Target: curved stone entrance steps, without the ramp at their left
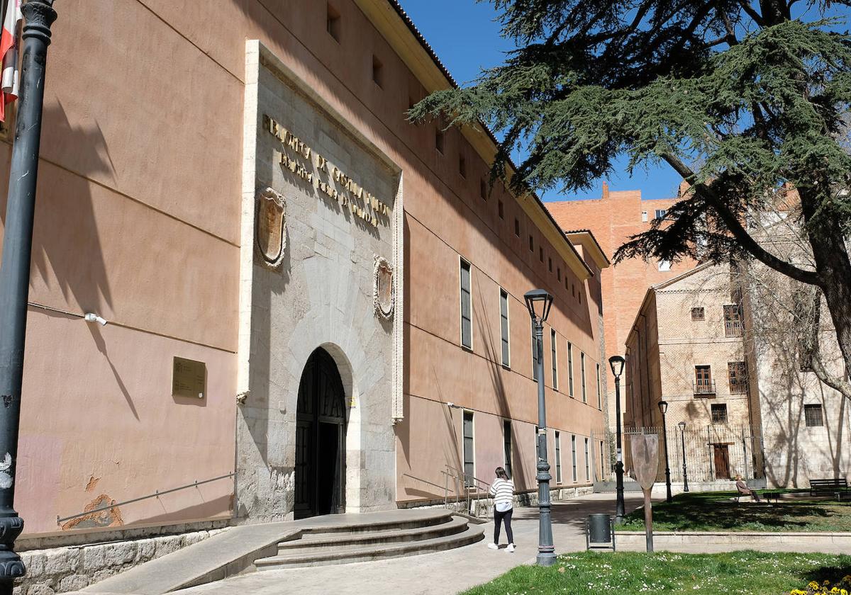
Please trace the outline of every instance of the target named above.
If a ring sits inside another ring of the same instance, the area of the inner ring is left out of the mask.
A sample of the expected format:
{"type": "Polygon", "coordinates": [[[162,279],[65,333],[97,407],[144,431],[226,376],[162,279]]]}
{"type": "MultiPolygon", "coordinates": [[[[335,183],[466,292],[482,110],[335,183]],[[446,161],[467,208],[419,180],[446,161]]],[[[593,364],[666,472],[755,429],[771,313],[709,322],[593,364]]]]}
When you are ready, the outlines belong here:
{"type": "Polygon", "coordinates": [[[307,528],[277,544],[277,555],[254,560],[257,570],[281,570],[401,558],[482,540],[480,525],[441,510],[424,519],[364,520],[363,524],[307,528]]]}

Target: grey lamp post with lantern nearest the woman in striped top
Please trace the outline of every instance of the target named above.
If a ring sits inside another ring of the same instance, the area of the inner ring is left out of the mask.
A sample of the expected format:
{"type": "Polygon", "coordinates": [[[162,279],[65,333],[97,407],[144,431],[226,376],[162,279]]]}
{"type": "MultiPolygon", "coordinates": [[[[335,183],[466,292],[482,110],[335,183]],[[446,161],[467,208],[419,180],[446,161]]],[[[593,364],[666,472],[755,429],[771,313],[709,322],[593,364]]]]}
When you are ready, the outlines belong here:
{"type": "Polygon", "coordinates": [[[533,289],[523,296],[534,325],[534,348],[538,360],[538,558],[539,566],[556,564],[556,548],[552,545],[550,509],[550,463],[546,462],[546,403],[544,399],[544,321],[550,314],[552,296],[543,289],[533,289]]]}

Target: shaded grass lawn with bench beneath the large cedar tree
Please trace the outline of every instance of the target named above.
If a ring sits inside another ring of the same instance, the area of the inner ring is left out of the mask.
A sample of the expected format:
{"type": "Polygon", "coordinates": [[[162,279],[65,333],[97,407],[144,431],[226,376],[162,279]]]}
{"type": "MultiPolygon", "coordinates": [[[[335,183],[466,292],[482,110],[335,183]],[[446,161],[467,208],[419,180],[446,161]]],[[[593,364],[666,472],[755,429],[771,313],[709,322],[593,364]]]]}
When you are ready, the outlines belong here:
{"type": "MultiPolygon", "coordinates": [[[[679,494],[654,502],[656,531],[851,531],[851,502],[780,500],[770,506],[730,501],[734,492],[679,494]]],[[[643,531],[644,511],[625,517],[620,530],[643,531]]]]}

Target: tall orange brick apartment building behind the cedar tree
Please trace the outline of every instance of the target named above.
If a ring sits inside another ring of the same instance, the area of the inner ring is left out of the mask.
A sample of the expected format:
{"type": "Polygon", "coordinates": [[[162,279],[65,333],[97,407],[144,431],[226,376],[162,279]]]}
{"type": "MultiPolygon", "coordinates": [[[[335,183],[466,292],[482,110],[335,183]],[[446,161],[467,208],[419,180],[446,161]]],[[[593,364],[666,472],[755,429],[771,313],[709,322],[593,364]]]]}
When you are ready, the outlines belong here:
{"type": "MultiPolygon", "coordinates": [[[[664,217],[667,209],[677,200],[676,197],[647,200],[642,198],[641,190],[608,190],[608,184],[603,183],[603,195],[598,200],[545,204],[563,229],[590,230],[603,253],[612,260],[614,252],[631,235],[648,230],[653,220],[664,217]]],[[[604,361],[612,355],[624,354],[626,337],[648,287],[671,279],[693,266],[691,261],[644,262],[631,258],[603,272],[601,282],[603,303],[606,304],[603,315],[604,361]]],[[[608,365],[603,373],[610,380],[608,365]]],[[[608,394],[608,425],[614,427],[614,382],[604,382],[604,386],[608,394]]]]}

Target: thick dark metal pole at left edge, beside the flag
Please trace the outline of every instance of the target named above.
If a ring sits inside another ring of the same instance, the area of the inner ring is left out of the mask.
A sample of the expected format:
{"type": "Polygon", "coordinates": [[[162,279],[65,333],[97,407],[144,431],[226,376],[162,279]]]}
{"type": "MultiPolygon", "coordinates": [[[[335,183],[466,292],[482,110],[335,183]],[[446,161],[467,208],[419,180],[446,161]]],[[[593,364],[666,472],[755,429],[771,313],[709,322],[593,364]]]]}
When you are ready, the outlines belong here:
{"type": "Polygon", "coordinates": [[[54,0],[27,0],[21,6],[23,64],[12,165],[3,261],[0,263],[0,595],[12,595],[14,579],[26,573],[14,540],[24,521],[14,510],[14,479],[18,456],[20,388],[24,373],[26,302],[30,290],[32,224],[36,206],[38,150],[42,133],[44,65],[50,26],[56,20],[54,0]]]}

